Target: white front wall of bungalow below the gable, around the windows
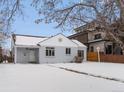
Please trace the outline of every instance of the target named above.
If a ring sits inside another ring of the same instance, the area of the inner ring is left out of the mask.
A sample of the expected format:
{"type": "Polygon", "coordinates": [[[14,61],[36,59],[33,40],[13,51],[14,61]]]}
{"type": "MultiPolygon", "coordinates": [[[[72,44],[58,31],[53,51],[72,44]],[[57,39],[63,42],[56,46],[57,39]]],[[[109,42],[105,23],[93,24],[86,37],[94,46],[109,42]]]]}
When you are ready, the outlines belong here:
{"type": "MultiPolygon", "coordinates": [[[[54,57],[47,57],[46,56],[46,47],[41,47],[39,52],[39,60],[40,63],[67,63],[74,61],[74,57],[77,56],[77,51],[79,48],[74,47],[55,47],[55,56],[54,57]],[[71,55],[66,55],[65,50],[66,48],[71,48],[71,55]]],[[[84,50],[84,60],[86,61],[87,53],[86,48],[80,48],[81,50],[84,50]]]]}

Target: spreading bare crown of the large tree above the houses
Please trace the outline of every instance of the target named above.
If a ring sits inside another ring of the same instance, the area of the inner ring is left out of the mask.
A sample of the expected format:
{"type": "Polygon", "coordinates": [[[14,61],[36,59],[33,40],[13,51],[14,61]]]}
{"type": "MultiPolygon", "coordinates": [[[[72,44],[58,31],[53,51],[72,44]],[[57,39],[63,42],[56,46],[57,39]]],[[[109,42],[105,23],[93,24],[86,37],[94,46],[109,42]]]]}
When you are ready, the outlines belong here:
{"type": "Polygon", "coordinates": [[[33,0],[32,5],[42,17],[37,22],[56,22],[57,27],[81,26],[92,20],[111,23],[119,12],[115,0],[33,0]]]}

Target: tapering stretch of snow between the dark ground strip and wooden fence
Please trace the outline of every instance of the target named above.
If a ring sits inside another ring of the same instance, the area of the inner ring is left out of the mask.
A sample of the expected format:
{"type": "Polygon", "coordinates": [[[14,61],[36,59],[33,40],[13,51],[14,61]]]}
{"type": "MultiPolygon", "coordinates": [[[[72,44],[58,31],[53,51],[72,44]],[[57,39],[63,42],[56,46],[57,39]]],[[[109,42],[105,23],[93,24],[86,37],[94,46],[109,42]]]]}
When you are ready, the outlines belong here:
{"type": "Polygon", "coordinates": [[[52,66],[124,83],[124,64],[84,62],[52,64],[52,66]]]}

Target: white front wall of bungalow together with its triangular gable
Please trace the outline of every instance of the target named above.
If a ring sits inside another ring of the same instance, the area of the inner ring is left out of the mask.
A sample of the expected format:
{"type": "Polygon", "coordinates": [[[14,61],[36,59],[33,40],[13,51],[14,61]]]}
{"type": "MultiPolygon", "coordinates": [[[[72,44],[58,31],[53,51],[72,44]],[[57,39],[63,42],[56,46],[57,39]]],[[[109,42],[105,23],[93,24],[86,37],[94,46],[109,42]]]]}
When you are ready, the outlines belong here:
{"type": "MultiPolygon", "coordinates": [[[[40,63],[62,63],[74,61],[74,58],[75,56],[77,56],[79,48],[78,44],[69,40],[68,38],[61,34],[51,37],[43,42],[40,42],[39,44],[41,45],[39,52],[40,63]],[[59,39],[61,39],[61,41],[59,41],[59,39]],[[55,48],[54,57],[46,57],[46,47],[55,48]],[[66,55],[65,53],[66,48],[71,48],[71,55],[66,55]]],[[[84,50],[85,53],[84,61],[86,61],[86,46],[82,46],[80,48],[84,50]]]]}

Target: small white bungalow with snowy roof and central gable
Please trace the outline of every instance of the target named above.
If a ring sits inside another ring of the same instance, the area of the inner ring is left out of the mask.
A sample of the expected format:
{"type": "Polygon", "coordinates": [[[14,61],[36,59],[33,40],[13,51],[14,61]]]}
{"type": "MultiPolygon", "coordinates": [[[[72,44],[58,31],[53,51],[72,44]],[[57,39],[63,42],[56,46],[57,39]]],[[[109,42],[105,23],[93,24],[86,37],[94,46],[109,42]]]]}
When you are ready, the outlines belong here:
{"type": "Polygon", "coordinates": [[[49,38],[18,34],[12,37],[14,63],[73,62],[77,55],[82,56],[83,61],[87,59],[87,47],[62,34],[49,38]]]}

